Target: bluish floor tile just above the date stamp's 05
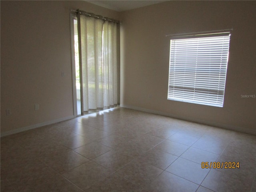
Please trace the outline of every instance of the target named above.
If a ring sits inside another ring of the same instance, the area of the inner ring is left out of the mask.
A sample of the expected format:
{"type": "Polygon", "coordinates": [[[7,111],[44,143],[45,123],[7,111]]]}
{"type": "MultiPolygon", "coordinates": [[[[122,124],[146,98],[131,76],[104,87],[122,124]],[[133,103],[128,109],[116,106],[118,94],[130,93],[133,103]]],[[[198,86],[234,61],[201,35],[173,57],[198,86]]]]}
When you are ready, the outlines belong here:
{"type": "Polygon", "coordinates": [[[190,147],[180,157],[201,164],[201,162],[216,162],[219,155],[208,152],[208,151],[204,151],[201,149],[190,147]]]}

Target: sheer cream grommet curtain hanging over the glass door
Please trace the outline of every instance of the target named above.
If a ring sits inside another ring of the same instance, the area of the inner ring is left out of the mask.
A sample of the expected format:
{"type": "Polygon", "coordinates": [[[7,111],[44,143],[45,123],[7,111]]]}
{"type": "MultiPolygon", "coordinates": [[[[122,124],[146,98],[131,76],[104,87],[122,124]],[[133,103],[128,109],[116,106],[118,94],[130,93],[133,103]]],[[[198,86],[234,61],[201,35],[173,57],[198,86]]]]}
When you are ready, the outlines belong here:
{"type": "Polygon", "coordinates": [[[78,11],[81,114],[119,104],[119,25],[78,11]]]}

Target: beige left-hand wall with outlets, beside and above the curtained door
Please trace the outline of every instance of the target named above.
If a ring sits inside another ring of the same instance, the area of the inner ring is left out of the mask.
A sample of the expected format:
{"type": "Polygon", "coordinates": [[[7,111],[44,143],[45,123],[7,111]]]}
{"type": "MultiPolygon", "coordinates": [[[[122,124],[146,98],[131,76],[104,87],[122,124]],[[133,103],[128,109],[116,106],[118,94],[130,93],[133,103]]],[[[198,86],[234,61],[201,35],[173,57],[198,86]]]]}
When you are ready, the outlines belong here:
{"type": "Polygon", "coordinates": [[[72,117],[70,10],[118,12],[84,1],[0,3],[1,133],[72,117]]]}

